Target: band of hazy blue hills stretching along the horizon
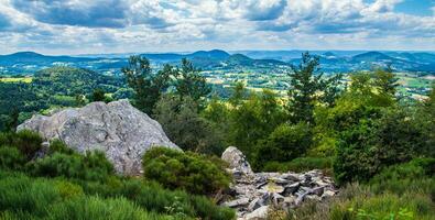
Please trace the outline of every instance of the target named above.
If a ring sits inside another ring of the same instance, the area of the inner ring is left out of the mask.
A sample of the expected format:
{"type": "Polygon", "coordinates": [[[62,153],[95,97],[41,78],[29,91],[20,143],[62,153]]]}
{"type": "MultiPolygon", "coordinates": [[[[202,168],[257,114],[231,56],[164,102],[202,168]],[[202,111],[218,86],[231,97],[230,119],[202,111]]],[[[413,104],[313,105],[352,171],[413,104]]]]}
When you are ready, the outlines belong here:
{"type": "MultiPolygon", "coordinates": [[[[182,58],[205,70],[274,70],[298,64],[304,51],[241,51],[227,53],[221,50],[197,51],[193,53],[144,53],[157,68],[164,64],[180,65],[182,58]]],[[[313,51],[320,57],[322,69],[327,73],[347,73],[371,69],[374,66],[391,65],[396,70],[435,73],[435,53],[428,52],[360,52],[360,51],[313,51]]],[[[127,57],[104,55],[47,56],[34,52],[0,55],[0,75],[33,74],[37,70],[70,66],[93,69],[105,74],[120,74],[128,65],[127,57]]]]}

